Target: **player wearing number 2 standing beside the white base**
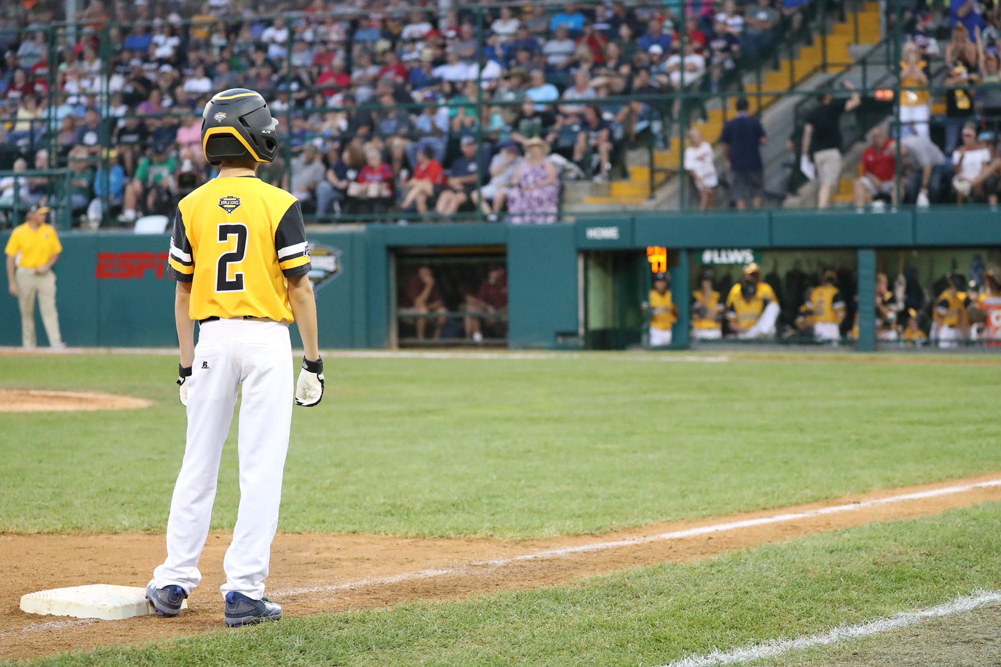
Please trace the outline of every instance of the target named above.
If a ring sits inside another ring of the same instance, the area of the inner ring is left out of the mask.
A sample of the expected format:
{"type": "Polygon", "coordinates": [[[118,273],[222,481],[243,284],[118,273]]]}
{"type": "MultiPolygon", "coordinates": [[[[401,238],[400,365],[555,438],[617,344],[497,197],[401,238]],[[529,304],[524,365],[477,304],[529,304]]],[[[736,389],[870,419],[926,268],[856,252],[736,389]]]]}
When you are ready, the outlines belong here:
{"type": "Polygon", "coordinates": [[[170,239],[181,350],[177,384],[187,407],[187,445],[170,503],[167,558],[153,571],[146,598],[157,613],[176,616],[201,580],[198,558],[242,384],[240,504],[222,586],[225,623],[239,627],[281,618],[281,607],[264,597],[263,582],[278,526],[292,419],[288,324],[293,319],[305,350],[296,405],[319,403],[323,362],[298,201],[254,175],[257,165],[277,152],[277,120],[258,93],[243,88],[215,95],[202,118],[202,149],[220,169],[218,177],[181,199],[170,239]]]}

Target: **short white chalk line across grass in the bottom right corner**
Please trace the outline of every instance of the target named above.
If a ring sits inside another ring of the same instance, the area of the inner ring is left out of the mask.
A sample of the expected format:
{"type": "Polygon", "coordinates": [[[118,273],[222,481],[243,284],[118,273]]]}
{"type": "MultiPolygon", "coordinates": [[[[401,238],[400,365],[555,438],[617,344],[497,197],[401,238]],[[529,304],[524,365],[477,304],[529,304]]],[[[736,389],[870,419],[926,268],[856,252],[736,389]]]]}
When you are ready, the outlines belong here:
{"type": "Polygon", "coordinates": [[[839,625],[828,632],[806,635],[796,639],[776,639],[763,644],[745,646],[732,651],[714,651],[700,656],[682,658],[662,667],[717,667],[718,665],[742,665],[765,658],[775,658],[790,651],[804,651],[816,646],[830,646],[849,639],[861,639],[909,625],[921,623],[930,618],[941,618],[952,614],[973,611],[978,607],[1001,602],[997,591],[975,591],[935,607],[916,612],[901,612],[895,616],[867,621],[859,625],[839,625]]]}

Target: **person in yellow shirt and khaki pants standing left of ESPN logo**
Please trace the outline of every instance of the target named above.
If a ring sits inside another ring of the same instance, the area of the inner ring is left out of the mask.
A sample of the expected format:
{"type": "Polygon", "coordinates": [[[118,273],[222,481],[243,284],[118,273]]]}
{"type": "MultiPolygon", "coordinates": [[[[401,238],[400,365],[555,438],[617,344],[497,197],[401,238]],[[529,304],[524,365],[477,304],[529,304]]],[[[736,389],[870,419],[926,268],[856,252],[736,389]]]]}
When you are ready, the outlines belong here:
{"type": "Polygon", "coordinates": [[[21,345],[35,347],[35,296],[42,311],[42,323],[53,348],[64,348],[59,336],[56,310],[56,274],[52,266],[59,259],[62,243],[55,228],[45,221],[48,206],[33,206],[28,221],[18,225],[7,241],[7,283],[21,307],[21,345]]]}

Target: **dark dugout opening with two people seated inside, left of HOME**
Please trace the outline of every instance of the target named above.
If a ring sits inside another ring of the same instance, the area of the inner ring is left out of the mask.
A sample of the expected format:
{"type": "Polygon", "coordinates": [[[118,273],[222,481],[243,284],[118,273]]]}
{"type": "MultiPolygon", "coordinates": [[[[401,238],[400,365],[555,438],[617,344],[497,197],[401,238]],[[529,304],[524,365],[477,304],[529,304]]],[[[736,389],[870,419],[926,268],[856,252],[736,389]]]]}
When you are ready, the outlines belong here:
{"type": "Polygon", "coordinates": [[[507,348],[504,245],[395,248],[390,270],[391,348],[507,348]]]}

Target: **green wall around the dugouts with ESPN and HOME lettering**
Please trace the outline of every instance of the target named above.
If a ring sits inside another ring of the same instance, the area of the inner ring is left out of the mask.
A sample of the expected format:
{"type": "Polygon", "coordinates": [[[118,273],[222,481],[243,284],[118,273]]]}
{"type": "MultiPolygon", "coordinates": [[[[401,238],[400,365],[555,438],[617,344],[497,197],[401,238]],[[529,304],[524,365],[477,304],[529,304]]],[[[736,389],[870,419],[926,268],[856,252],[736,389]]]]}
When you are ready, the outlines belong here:
{"type": "MultiPolygon", "coordinates": [[[[9,232],[0,233],[6,242],[9,232]]],[[[675,347],[688,345],[690,258],[702,248],[839,248],[858,253],[860,340],[875,347],[872,315],[877,253],[890,249],[1001,246],[1001,216],[943,208],[882,214],[761,211],[610,215],[552,225],[370,224],[318,228],[310,245],[334,253],[339,271],[317,289],[324,348],[386,348],[394,325],[393,257],[415,248],[475,246],[507,251],[509,341],[513,349],[583,345],[581,253],[672,250],[672,288],[681,312],[675,347]],[[681,252],[678,252],[681,250],[681,252]]],[[[164,268],[167,235],[70,232],[56,266],[63,338],[70,346],[176,345],[173,283],[164,268]]],[[[6,290],[5,290],[6,291],[6,290]]],[[[36,313],[37,317],[37,313],[36,313]]],[[[40,343],[44,341],[37,322],[40,343]]],[[[0,297],[0,345],[20,344],[17,302],[0,297]]]]}

